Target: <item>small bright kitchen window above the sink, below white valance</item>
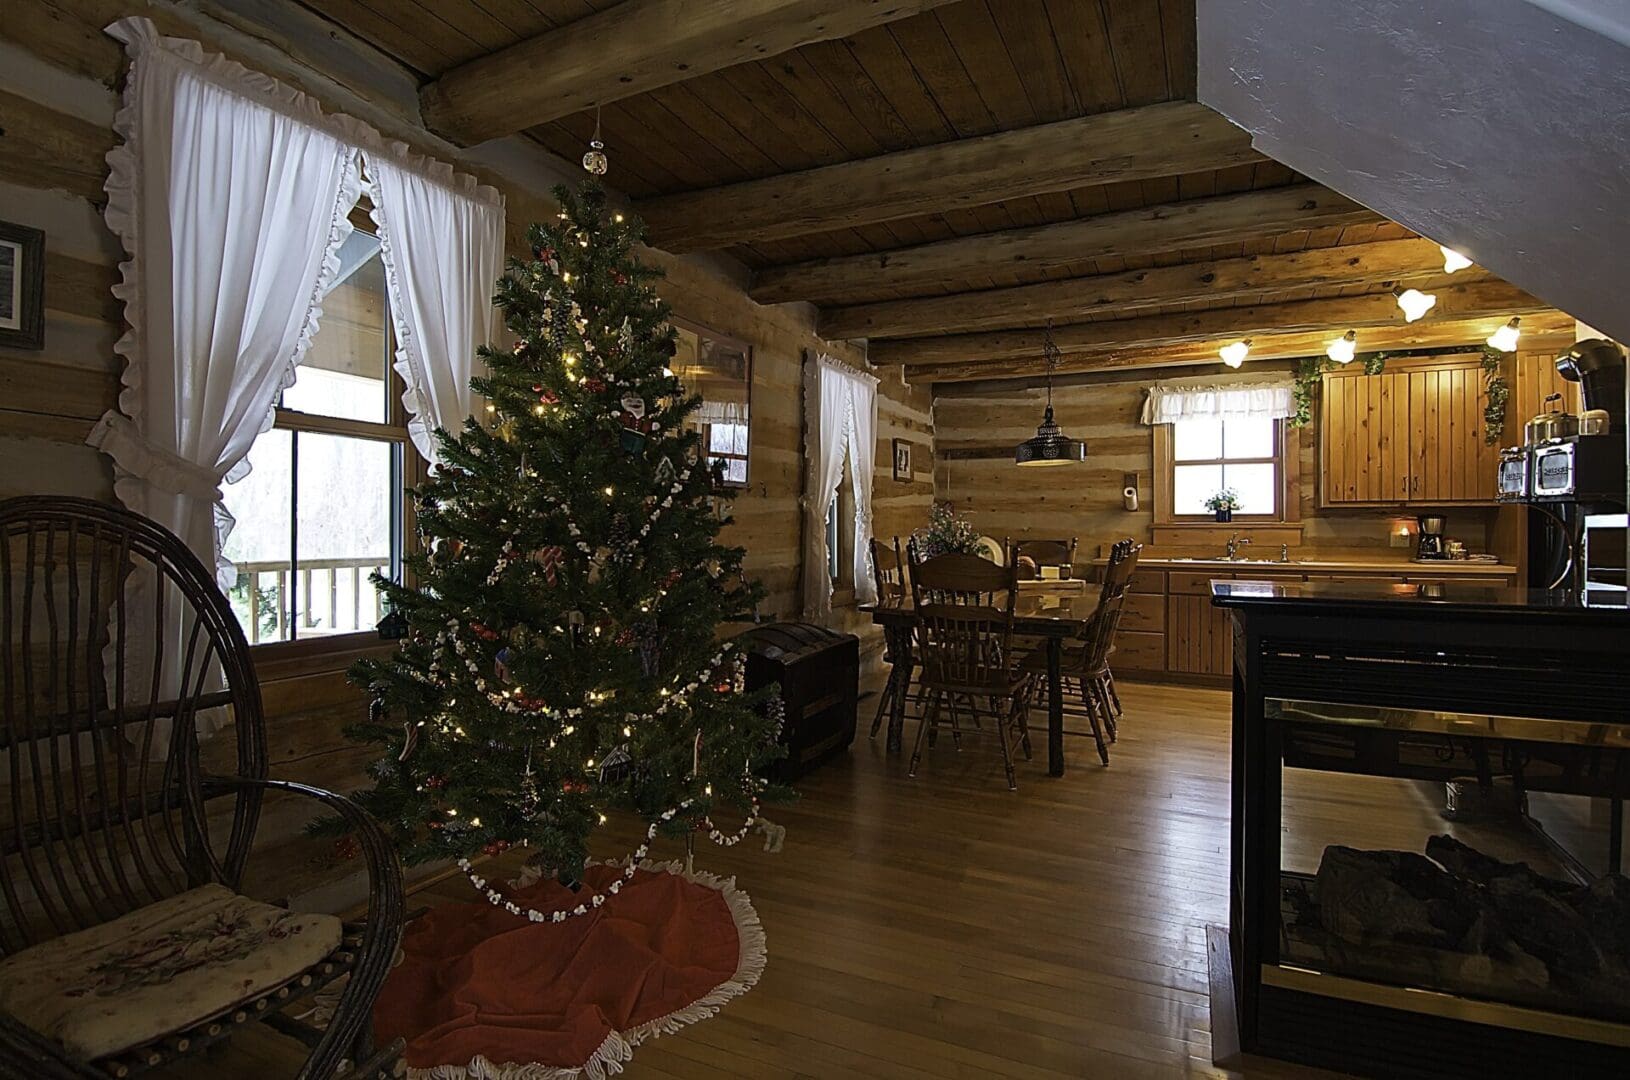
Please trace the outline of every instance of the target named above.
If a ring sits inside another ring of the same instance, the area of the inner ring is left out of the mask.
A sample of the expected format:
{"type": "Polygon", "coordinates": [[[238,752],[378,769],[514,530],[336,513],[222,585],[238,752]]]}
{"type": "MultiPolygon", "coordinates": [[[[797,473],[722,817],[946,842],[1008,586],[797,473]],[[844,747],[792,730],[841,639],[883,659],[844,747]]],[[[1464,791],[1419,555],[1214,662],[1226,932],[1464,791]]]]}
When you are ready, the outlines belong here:
{"type": "Polygon", "coordinates": [[[1284,433],[1280,420],[1190,417],[1156,428],[1164,472],[1162,518],[1209,520],[1206,500],[1222,489],[1239,495],[1236,518],[1286,520],[1284,433]]]}

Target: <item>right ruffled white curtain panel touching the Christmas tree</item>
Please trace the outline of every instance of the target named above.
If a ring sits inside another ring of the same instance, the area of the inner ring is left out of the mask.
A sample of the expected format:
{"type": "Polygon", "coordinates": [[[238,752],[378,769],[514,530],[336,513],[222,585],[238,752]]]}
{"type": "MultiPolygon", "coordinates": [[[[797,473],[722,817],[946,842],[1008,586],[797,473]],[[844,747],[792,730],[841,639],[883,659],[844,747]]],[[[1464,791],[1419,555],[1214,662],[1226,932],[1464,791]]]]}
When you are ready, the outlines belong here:
{"type": "Polygon", "coordinates": [[[458,435],[473,412],[476,349],[492,340],[492,290],[504,274],[504,202],[491,187],[430,178],[365,155],[373,223],[396,323],[408,435],[437,459],[435,428],[458,435]]]}

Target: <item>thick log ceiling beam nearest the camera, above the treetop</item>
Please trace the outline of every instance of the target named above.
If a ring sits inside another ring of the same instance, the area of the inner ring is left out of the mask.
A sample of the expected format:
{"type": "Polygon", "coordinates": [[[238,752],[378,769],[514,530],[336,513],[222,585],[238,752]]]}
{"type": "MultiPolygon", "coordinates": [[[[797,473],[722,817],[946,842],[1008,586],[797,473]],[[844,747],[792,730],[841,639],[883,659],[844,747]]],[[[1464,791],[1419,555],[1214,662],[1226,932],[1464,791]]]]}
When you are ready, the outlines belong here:
{"type": "Polygon", "coordinates": [[[944,3],[623,0],[445,72],[419,103],[430,130],[469,145],[944,3]]]}

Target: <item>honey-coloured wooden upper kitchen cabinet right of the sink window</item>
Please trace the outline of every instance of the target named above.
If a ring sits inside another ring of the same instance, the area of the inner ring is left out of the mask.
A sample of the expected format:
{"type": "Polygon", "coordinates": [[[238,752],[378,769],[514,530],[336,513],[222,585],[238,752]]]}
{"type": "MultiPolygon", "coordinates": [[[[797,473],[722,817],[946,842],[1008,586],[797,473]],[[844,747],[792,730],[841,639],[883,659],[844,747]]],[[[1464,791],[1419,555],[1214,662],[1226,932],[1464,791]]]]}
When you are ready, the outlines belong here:
{"type": "Polygon", "coordinates": [[[1394,362],[1324,376],[1319,498],[1343,505],[1493,503],[1482,360],[1394,362]]]}

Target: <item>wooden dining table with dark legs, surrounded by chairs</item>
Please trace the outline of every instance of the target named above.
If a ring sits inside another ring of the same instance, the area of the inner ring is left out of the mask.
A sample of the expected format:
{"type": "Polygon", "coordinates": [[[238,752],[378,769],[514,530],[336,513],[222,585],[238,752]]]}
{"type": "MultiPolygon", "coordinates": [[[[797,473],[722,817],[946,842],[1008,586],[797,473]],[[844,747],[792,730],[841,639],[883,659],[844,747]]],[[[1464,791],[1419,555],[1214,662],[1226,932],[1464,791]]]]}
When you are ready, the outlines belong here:
{"type": "MultiPolygon", "coordinates": [[[[1064,642],[1086,634],[1087,621],[1099,606],[1097,590],[1087,590],[1086,582],[1048,582],[1051,588],[1024,588],[1019,583],[1014,599],[1014,635],[1042,640],[1046,650],[1046,774],[1064,775],[1064,694],[1063,666],[1064,642]]],[[[1037,583],[1040,585],[1040,582],[1037,583]]],[[[862,614],[883,630],[888,655],[895,658],[888,673],[893,684],[893,709],[888,713],[888,751],[903,746],[906,725],[906,691],[911,687],[913,630],[916,608],[910,596],[885,598],[875,604],[861,604],[862,614]]]]}

